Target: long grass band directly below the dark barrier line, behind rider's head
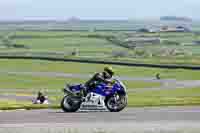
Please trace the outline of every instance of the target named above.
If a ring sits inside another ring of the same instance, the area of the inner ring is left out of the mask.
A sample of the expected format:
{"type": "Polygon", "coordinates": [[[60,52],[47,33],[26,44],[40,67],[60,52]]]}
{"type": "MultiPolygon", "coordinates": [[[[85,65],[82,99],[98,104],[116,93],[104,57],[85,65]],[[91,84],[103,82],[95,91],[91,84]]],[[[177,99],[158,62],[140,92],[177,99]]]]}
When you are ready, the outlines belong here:
{"type": "MultiPolygon", "coordinates": [[[[87,64],[72,62],[51,62],[41,60],[0,60],[0,71],[6,72],[61,72],[74,74],[94,74],[101,72],[103,64],[87,64]]],[[[143,67],[127,67],[115,66],[117,76],[130,77],[155,77],[156,73],[160,73],[161,78],[173,78],[180,80],[199,80],[200,71],[182,70],[182,69],[158,69],[143,67]],[[187,76],[185,76],[187,75],[187,76]]]]}

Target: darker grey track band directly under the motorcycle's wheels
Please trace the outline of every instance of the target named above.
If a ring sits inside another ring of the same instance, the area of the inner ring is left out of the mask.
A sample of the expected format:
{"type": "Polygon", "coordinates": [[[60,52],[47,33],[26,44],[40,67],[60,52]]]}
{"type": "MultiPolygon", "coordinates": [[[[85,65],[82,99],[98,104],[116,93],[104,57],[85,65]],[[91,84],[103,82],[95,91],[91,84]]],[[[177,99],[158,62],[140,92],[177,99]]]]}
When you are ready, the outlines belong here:
{"type": "Polygon", "coordinates": [[[119,113],[76,112],[61,110],[10,111],[0,113],[0,124],[16,123],[93,123],[194,121],[200,124],[200,107],[128,108],[119,113]]]}

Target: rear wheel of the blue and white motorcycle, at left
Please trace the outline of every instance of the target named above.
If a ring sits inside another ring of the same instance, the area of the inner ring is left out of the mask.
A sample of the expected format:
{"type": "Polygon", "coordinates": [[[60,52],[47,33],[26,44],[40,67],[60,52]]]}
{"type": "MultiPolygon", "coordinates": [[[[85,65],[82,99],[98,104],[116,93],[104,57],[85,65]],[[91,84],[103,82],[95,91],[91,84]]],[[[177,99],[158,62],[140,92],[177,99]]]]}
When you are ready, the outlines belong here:
{"type": "Polygon", "coordinates": [[[81,100],[75,96],[65,96],[61,101],[61,108],[64,112],[76,112],[81,106],[81,100]]]}

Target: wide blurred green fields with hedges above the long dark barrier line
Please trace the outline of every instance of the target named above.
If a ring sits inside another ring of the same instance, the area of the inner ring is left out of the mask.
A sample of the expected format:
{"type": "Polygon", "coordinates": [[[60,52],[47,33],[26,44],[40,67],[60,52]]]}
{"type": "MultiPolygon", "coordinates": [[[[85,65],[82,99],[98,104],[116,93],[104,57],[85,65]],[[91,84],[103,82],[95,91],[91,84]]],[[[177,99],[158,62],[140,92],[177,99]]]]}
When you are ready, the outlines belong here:
{"type": "Polygon", "coordinates": [[[200,45],[194,44],[194,41],[199,41],[200,35],[193,33],[10,31],[1,33],[0,37],[0,54],[18,52],[23,55],[26,52],[39,56],[55,56],[59,53],[65,58],[152,64],[200,64],[200,45]],[[11,44],[26,48],[5,47],[5,42],[2,42],[5,37],[8,37],[11,44]],[[114,37],[113,42],[108,41],[110,37],[114,37]],[[162,41],[160,44],[126,43],[127,38],[160,38],[162,41]],[[125,48],[129,45],[136,47],[125,48]],[[73,52],[75,55],[72,55],[73,52]]]}

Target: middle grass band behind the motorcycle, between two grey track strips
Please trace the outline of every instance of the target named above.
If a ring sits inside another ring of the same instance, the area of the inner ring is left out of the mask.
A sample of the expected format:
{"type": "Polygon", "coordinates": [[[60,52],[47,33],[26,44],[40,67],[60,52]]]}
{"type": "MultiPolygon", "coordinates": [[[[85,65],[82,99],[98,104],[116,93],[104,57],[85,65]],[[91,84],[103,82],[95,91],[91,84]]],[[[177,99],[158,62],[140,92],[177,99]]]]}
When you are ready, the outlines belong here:
{"type": "MultiPolygon", "coordinates": [[[[29,76],[29,75],[16,75],[16,74],[1,74],[0,75],[0,88],[11,89],[53,89],[61,90],[66,83],[79,84],[85,83],[86,79],[79,78],[58,78],[47,76],[29,76]],[[12,83],[12,84],[11,84],[12,83]]],[[[158,82],[143,82],[143,81],[124,81],[128,89],[139,88],[152,88],[159,87],[161,84],[158,82]]]]}

